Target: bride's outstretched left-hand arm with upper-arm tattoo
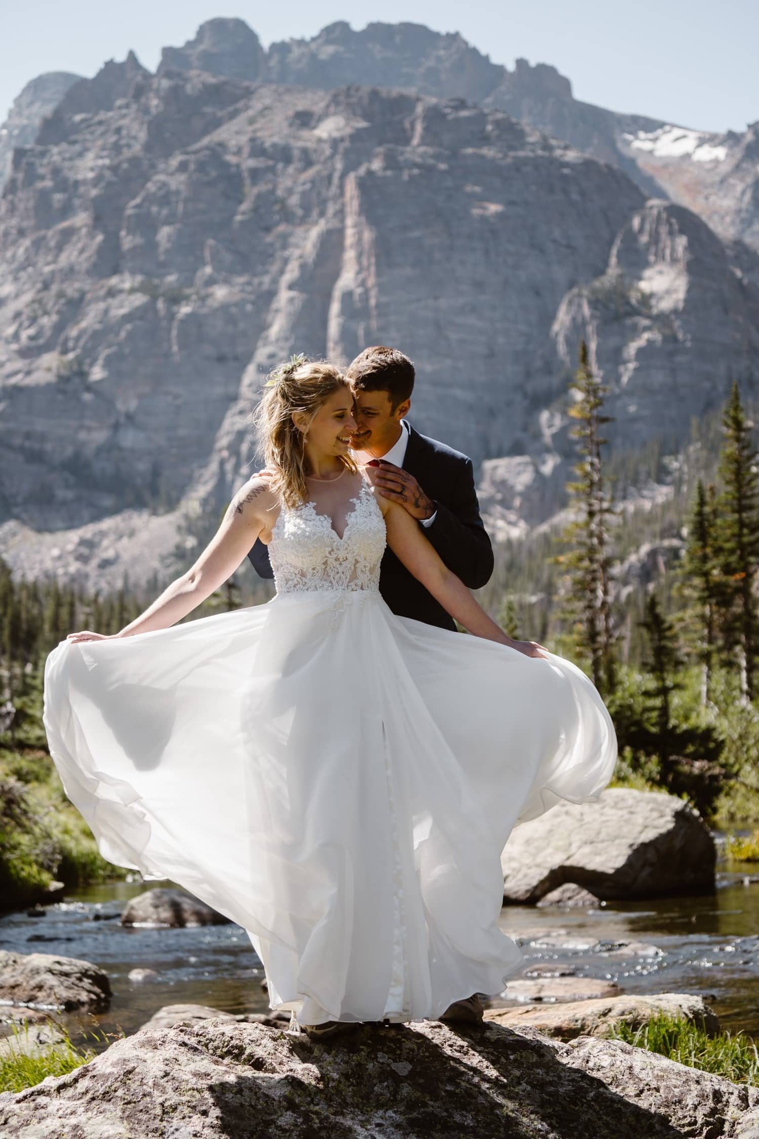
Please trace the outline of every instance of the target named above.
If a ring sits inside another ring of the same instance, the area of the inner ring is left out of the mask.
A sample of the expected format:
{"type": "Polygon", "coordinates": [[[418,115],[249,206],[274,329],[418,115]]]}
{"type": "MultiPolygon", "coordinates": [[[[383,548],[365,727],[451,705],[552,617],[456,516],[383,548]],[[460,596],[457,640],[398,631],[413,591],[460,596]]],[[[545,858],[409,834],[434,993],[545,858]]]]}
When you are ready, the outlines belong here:
{"type": "MultiPolygon", "coordinates": [[[[273,516],[267,510],[273,506],[275,499],[267,481],[258,476],[250,478],[230,502],[218,530],[195,564],[167,585],[139,617],[114,636],[132,637],[155,629],[168,629],[197,608],[246,559],[255,540],[272,522],[273,516]]],[[[72,641],[96,639],[105,638],[90,630],[67,637],[72,641]]]]}

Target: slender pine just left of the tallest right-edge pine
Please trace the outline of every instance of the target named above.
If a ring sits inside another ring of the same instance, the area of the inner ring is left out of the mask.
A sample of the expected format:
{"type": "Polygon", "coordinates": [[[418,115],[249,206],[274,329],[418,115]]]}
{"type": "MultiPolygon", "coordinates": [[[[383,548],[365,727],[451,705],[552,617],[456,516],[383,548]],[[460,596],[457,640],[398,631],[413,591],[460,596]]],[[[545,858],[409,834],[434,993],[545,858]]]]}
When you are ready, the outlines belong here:
{"type": "Polygon", "coordinates": [[[711,698],[717,617],[721,584],[716,551],[715,489],[699,480],[687,530],[687,544],[679,573],[691,606],[686,618],[695,632],[695,654],[701,665],[701,704],[711,698]]]}

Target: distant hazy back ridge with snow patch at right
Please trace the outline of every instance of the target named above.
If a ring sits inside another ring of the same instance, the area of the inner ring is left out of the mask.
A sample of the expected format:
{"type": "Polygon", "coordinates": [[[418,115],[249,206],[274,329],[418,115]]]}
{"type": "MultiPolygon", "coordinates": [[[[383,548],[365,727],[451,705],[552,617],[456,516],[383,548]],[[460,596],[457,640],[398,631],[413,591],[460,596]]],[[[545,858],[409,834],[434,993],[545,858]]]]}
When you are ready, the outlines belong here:
{"type": "Polygon", "coordinates": [[[166,48],[164,63],[234,79],[325,89],[361,83],[481,103],[613,163],[646,197],[687,206],[724,239],[759,248],[759,123],[716,134],[608,110],[576,99],[570,81],[548,64],[517,59],[510,71],[459,34],[411,23],[371,23],[355,32],[341,21],[264,54],[242,21],[214,19],[183,48],[166,48]]]}

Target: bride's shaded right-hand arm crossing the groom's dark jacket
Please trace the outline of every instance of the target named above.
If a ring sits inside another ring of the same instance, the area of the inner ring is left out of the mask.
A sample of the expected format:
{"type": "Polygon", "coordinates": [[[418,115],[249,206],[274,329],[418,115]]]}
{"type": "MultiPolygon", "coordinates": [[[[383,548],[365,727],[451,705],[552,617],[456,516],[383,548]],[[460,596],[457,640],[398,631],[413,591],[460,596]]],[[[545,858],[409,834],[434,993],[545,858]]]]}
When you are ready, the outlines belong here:
{"type": "Polygon", "coordinates": [[[461,579],[448,570],[415,518],[403,506],[382,498],[377,491],[376,498],[385,515],[388,546],[452,617],[476,637],[508,645],[526,656],[543,656],[534,641],[513,640],[488,617],[461,579]]]}

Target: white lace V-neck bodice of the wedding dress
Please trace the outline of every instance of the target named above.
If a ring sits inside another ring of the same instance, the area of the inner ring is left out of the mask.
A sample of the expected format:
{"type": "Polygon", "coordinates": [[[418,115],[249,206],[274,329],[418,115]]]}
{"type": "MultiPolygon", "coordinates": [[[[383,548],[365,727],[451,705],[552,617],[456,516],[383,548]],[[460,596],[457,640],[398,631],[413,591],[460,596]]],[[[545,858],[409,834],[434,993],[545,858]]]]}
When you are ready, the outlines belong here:
{"type": "Polygon", "coordinates": [[[363,481],[350,502],[343,538],[327,515],[317,514],[316,503],[282,507],[269,543],[278,593],[315,589],[378,593],[385,518],[363,481]]]}

